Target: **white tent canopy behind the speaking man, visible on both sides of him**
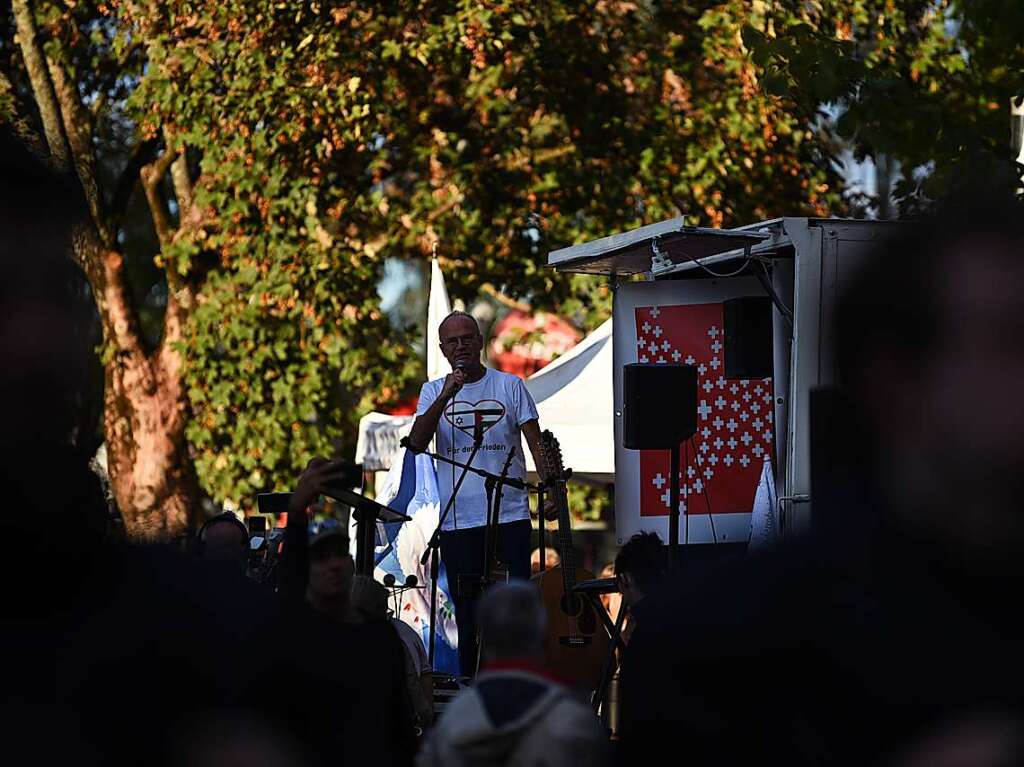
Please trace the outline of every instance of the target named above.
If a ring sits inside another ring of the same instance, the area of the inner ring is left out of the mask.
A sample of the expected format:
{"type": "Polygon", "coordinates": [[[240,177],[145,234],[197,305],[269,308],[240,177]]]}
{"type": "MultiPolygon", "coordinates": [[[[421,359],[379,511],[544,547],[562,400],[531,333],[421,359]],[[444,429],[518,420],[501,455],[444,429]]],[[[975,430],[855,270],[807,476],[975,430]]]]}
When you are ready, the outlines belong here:
{"type": "MultiPolygon", "coordinates": [[[[541,427],[550,429],[562,460],[579,479],[615,480],[614,416],[611,392],[611,319],[572,349],[526,379],[541,427]]],[[[359,421],[355,461],[368,471],[386,471],[409,433],[412,416],[370,413],[359,421]]],[[[523,449],[526,450],[525,444],[523,449]]],[[[526,468],[535,472],[526,450],[526,468]]]]}

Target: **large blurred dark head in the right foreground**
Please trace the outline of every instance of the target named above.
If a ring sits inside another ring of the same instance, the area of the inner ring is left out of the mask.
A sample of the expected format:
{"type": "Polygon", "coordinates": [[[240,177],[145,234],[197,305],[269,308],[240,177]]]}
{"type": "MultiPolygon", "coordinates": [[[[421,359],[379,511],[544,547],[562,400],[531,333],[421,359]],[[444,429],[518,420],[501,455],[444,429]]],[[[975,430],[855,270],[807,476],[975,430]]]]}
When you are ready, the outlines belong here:
{"type": "Polygon", "coordinates": [[[972,568],[1019,568],[1024,550],[1022,250],[1016,202],[949,206],[901,226],[837,317],[889,511],[972,568]]]}

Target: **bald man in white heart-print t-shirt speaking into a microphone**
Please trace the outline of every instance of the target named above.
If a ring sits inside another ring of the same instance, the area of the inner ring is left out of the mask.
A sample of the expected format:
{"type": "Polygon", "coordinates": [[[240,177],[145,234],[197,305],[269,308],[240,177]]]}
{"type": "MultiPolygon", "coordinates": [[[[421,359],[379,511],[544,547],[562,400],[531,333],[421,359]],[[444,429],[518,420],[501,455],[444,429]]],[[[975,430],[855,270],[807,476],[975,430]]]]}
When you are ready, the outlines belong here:
{"type": "MultiPolygon", "coordinates": [[[[545,463],[537,406],[522,380],[485,368],[480,363],[483,336],[471,314],[453,311],[441,322],[438,336],[441,353],[451,363],[452,373],[423,384],[416,421],[409,434],[410,448],[421,453],[436,438],[438,455],[465,463],[473,452],[474,438],[478,438],[480,448],[473,466],[492,474],[501,473],[509,451],[515,449],[508,476],[523,479],[526,463],[522,435],[540,470],[545,463]]],[[[437,485],[442,510],[461,473],[462,470],[452,464],[438,463],[437,485]]],[[[460,577],[485,574],[486,515],[484,479],[469,472],[440,534],[441,561],[447,571],[459,627],[459,665],[466,676],[472,675],[476,668],[479,593],[463,588],[470,579],[460,577]]],[[[497,558],[508,566],[510,577],[525,580],[529,578],[529,551],[528,495],[525,489],[505,486],[496,539],[497,558]]]]}

